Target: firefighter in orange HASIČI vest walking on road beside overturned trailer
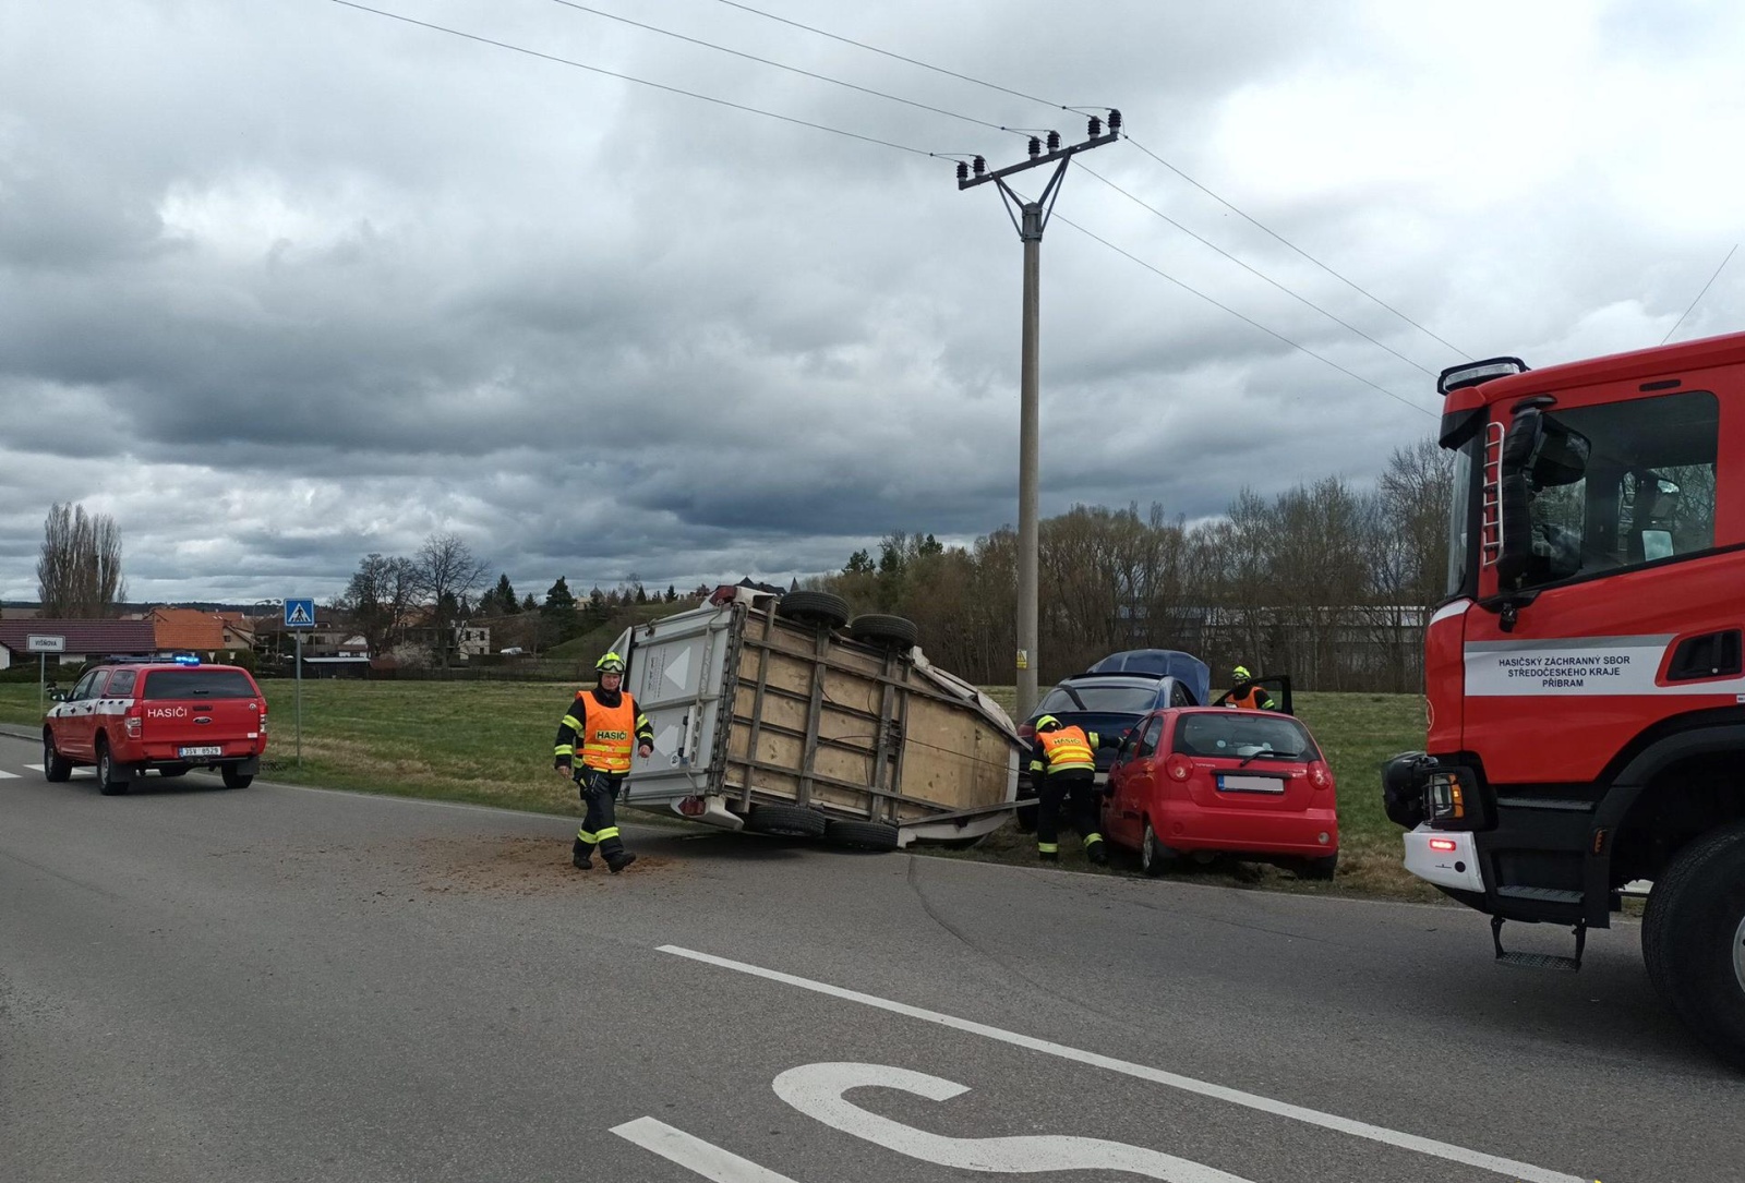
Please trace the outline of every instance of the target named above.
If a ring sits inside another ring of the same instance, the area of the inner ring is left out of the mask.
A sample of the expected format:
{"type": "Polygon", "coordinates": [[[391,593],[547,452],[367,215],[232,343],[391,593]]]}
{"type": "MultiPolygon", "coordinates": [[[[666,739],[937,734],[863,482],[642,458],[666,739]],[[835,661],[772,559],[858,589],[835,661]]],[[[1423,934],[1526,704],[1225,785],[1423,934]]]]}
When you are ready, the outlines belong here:
{"type": "Polygon", "coordinates": [[[614,820],[618,785],[630,771],[630,752],[644,759],[654,750],[654,726],[637,708],[637,700],[623,691],[625,660],[607,653],[593,663],[599,684],[576,691],[564,721],[557,724],[557,769],[574,778],[588,806],[576,831],[571,862],[578,871],[593,867],[593,848],[600,848],[606,865],[618,874],[637,860],[625,850],[614,820]],[[572,768],[574,766],[574,768],[572,768]]]}

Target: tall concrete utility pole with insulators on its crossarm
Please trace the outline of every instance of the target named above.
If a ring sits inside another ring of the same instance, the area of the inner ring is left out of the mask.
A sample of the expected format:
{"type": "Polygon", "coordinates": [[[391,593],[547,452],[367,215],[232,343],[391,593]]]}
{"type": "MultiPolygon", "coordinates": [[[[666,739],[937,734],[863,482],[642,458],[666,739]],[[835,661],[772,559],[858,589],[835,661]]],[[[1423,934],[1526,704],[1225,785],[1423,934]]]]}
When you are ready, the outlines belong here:
{"type": "Polygon", "coordinates": [[[1012,218],[1017,239],[1024,244],[1024,340],[1019,361],[1019,415],[1017,415],[1017,717],[1028,719],[1037,705],[1037,616],[1040,612],[1038,593],[1038,525],[1042,496],[1038,492],[1038,469],[1042,454],[1042,393],[1038,389],[1037,368],[1040,358],[1038,321],[1040,321],[1040,270],[1042,270],[1042,230],[1049,225],[1054,211],[1054,199],[1059,195],[1061,178],[1066,174],[1066,162],[1087,148],[1101,148],[1105,143],[1120,140],[1120,112],[1108,113],[1108,131],[1103,120],[1092,117],[1089,138],[1068,148],[1061,147],[1061,133],[1050,131],[1047,152],[1042,150],[1038,136],[1030,138],[1030,159],[1021,164],[1009,164],[996,173],[988,171],[988,162],[975,157],[974,166],[958,161],[958,188],[974,188],[993,181],[1000,187],[1000,199],[1005,213],[1012,218]],[[1044,187],[1037,201],[1024,201],[1005,178],[1024,169],[1054,164],[1054,176],[1044,187]],[[1012,213],[1012,209],[1019,213],[1012,213]],[[1023,216],[1019,216],[1023,215],[1023,216]]]}

